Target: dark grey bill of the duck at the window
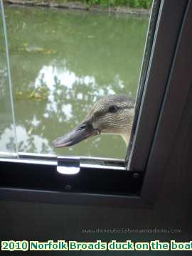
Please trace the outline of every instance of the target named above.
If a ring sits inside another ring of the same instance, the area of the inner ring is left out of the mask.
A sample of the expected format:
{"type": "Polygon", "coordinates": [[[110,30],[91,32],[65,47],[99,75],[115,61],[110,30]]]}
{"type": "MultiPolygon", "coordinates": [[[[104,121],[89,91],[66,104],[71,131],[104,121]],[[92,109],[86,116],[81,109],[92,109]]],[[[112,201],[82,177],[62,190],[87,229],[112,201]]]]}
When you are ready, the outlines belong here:
{"type": "Polygon", "coordinates": [[[57,148],[65,146],[73,146],[84,139],[95,136],[100,132],[98,129],[94,129],[92,124],[81,124],[75,128],[72,132],[55,139],[53,145],[57,148]],[[83,127],[83,129],[82,129],[83,127]]]}

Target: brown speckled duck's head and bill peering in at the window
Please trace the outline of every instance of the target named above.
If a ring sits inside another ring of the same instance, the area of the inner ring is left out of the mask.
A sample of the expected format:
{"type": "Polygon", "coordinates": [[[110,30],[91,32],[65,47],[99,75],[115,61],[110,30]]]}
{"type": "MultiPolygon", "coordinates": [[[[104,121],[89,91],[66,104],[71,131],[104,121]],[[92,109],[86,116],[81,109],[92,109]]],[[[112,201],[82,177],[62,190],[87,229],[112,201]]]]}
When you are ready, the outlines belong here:
{"type": "Polygon", "coordinates": [[[98,100],[80,122],[68,134],[53,141],[56,148],[73,146],[83,140],[100,135],[120,135],[126,144],[132,131],[134,100],[127,95],[108,95],[98,100]]]}

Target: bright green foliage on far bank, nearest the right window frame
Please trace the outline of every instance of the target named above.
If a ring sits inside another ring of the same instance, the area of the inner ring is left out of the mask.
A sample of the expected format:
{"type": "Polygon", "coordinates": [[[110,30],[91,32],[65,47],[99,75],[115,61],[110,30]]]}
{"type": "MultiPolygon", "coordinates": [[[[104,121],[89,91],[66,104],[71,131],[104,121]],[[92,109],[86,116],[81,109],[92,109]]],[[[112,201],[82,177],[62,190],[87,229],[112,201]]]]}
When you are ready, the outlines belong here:
{"type": "Polygon", "coordinates": [[[100,4],[102,6],[129,6],[131,8],[144,8],[151,7],[152,0],[85,0],[87,4],[100,4]]]}

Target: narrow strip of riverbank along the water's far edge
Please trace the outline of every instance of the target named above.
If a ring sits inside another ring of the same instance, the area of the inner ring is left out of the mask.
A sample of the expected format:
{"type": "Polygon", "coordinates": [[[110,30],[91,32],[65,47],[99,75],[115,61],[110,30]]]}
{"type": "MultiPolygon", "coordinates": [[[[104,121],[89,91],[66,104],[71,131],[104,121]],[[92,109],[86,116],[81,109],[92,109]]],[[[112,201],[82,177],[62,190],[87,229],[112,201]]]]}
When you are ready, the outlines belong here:
{"type": "Polygon", "coordinates": [[[52,7],[60,9],[78,9],[82,11],[107,11],[112,13],[121,14],[142,14],[149,15],[149,9],[144,8],[131,8],[125,6],[109,6],[103,4],[90,4],[85,1],[66,1],[66,0],[4,0],[6,4],[20,4],[26,6],[41,6],[41,7],[52,7]]]}

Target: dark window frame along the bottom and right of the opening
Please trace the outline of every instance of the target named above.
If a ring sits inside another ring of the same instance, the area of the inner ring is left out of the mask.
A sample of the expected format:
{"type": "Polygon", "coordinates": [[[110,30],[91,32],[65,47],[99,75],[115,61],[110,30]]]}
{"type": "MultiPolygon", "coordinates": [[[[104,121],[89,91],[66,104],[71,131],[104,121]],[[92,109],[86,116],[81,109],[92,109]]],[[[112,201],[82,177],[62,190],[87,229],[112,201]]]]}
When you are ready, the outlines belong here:
{"type": "Polygon", "coordinates": [[[154,4],[157,8],[151,17],[157,22],[154,28],[149,26],[149,31],[154,29],[154,37],[151,45],[146,43],[146,50],[151,51],[149,61],[146,56],[143,60],[126,161],[39,154],[1,158],[0,200],[146,208],[154,205],[192,80],[187,47],[192,45],[192,36],[188,35],[192,27],[191,0],[158,0],[154,4]],[[179,86],[179,82],[185,86],[179,86]],[[63,166],[63,174],[58,173],[58,166],[63,166]],[[78,174],[66,174],[71,167],[78,174]],[[28,168],[33,171],[29,173],[28,168]],[[90,184],[86,180],[86,189],[84,182],[79,183],[81,190],[74,191],[72,179],[83,174],[95,178],[90,184]],[[16,186],[16,178],[23,182],[21,186],[16,186]]]}

